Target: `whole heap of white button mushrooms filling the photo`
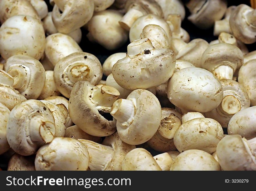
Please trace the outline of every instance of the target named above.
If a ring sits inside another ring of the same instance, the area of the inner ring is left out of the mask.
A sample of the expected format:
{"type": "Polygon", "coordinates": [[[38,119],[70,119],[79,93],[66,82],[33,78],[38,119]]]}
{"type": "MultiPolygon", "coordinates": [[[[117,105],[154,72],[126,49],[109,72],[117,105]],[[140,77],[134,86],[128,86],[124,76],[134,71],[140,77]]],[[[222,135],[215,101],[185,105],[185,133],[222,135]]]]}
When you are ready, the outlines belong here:
{"type": "Polygon", "coordinates": [[[256,170],[253,7],[1,0],[0,24],[3,170],[256,170]]]}

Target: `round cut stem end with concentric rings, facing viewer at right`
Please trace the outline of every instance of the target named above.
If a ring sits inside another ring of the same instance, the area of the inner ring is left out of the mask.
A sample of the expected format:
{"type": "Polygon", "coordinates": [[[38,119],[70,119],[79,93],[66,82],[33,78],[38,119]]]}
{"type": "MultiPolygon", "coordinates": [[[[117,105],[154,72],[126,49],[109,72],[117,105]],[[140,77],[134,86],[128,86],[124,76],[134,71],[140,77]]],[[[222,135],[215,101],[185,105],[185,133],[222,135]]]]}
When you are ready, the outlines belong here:
{"type": "Polygon", "coordinates": [[[234,115],[241,110],[241,104],[240,101],[233,95],[227,95],[222,99],[218,109],[221,111],[221,113],[234,115]]]}

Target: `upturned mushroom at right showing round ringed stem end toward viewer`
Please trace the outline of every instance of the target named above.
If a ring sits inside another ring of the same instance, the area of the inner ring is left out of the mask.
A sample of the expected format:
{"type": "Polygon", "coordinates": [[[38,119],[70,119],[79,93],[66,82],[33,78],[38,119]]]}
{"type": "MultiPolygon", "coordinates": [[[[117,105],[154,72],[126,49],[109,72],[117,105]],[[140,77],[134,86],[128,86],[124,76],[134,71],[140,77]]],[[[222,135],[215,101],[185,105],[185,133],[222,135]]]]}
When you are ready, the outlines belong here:
{"type": "Polygon", "coordinates": [[[250,98],[246,89],[236,81],[224,79],[221,80],[221,85],[223,88],[221,104],[214,110],[206,112],[205,116],[215,119],[223,128],[227,128],[234,114],[250,107],[250,98]]]}

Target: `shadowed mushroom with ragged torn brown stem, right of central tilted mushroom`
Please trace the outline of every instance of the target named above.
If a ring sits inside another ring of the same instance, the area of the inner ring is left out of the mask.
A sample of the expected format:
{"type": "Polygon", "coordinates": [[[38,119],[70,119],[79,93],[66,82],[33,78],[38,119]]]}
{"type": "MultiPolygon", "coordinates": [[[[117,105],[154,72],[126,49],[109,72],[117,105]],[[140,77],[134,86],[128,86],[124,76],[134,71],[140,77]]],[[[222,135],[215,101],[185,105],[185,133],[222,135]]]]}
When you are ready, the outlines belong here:
{"type": "Polygon", "coordinates": [[[181,117],[182,115],[175,109],[162,108],[160,126],[153,137],[147,141],[147,145],[159,152],[177,150],[173,142],[173,136],[182,124],[181,117]]]}

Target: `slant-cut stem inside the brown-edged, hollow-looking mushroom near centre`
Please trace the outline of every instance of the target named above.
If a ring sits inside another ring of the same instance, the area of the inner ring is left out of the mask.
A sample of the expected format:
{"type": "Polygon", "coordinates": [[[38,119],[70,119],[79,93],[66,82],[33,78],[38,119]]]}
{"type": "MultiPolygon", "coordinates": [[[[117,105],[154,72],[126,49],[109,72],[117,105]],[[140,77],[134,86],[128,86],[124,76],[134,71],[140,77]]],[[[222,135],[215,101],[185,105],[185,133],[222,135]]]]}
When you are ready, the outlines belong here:
{"type": "Polygon", "coordinates": [[[104,85],[93,93],[92,98],[98,103],[98,106],[111,107],[119,95],[117,89],[104,85]]]}

